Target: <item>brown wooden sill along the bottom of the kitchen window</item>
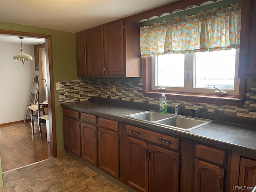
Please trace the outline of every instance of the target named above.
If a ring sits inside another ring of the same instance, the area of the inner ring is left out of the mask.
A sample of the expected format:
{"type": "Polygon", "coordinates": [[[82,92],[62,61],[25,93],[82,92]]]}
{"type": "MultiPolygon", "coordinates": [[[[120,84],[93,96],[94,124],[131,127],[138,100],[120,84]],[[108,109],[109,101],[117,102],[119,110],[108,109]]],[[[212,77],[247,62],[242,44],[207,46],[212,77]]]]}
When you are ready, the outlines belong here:
{"type": "Polygon", "coordinates": [[[144,91],[143,95],[149,98],[160,98],[162,93],[165,94],[167,100],[185,101],[191,103],[207,103],[216,105],[242,106],[244,99],[232,96],[214,96],[204,94],[187,94],[187,93],[171,93],[171,92],[154,92],[144,91]]]}

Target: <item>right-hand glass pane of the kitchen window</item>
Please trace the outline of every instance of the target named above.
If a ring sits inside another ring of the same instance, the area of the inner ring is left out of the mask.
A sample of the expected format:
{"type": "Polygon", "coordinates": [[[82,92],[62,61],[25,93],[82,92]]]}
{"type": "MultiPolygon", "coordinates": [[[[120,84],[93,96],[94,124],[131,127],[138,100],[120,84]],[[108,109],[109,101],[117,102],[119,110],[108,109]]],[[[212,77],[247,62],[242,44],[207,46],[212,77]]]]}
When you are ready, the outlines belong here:
{"type": "Polygon", "coordinates": [[[194,60],[194,88],[234,89],[236,50],[198,52],[194,60]]]}

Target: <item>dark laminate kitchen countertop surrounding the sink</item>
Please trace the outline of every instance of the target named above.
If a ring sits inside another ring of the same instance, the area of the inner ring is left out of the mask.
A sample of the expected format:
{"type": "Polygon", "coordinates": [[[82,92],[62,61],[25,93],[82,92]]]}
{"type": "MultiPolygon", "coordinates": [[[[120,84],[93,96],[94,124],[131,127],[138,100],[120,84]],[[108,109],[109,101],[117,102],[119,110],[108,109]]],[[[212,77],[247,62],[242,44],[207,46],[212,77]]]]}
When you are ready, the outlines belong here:
{"type": "Polygon", "coordinates": [[[62,108],[102,116],[110,120],[125,122],[155,132],[176,137],[190,138],[213,146],[221,146],[229,150],[237,150],[244,154],[256,155],[256,128],[254,126],[245,126],[214,120],[210,124],[202,126],[196,130],[185,132],[126,118],[125,115],[128,114],[152,110],[140,108],[140,106],[136,106],[136,102],[131,102],[130,105],[127,106],[120,105],[120,103],[114,104],[98,101],[82,101],[62,103],[61,106],[62,108]]]}

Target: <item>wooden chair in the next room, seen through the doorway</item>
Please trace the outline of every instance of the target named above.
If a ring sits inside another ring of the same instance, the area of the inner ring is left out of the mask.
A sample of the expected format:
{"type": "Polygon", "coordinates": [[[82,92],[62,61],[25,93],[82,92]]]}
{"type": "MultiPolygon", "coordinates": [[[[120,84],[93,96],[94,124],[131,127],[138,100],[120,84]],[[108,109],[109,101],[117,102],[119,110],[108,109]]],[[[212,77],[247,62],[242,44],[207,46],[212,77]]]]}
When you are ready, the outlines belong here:
{"type": "Polygon", "coordinates": [[[46,123],[45,119],[41,119],[39,118],[40,116],[43,116],[45,114],[44,112],[44,108],[48,107],[48,103],[39,103],[38,104],[38,111],[36,111],[34,114],[34,111],[31,110],[31,123],[32,123],[32,134],[34,135],[34,121],[38,123],[38,127],[39,127],[39,133],[40,133],[40,138],[41,140],[43,140],[42,138],[42,128],[41,128],[41,123],[46,123]]]}

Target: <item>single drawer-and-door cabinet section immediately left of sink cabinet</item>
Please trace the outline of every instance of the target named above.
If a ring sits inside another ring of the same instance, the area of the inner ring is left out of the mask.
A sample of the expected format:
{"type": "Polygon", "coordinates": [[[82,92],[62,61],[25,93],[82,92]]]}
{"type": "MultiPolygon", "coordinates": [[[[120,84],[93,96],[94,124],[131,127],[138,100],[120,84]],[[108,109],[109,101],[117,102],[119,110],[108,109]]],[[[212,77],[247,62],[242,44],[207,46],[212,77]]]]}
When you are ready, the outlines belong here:
{"type": "Polygon", "coordinates": [[[98,166],[109,175],[119,178],[118,122],[99,118],[98,166]]]}

